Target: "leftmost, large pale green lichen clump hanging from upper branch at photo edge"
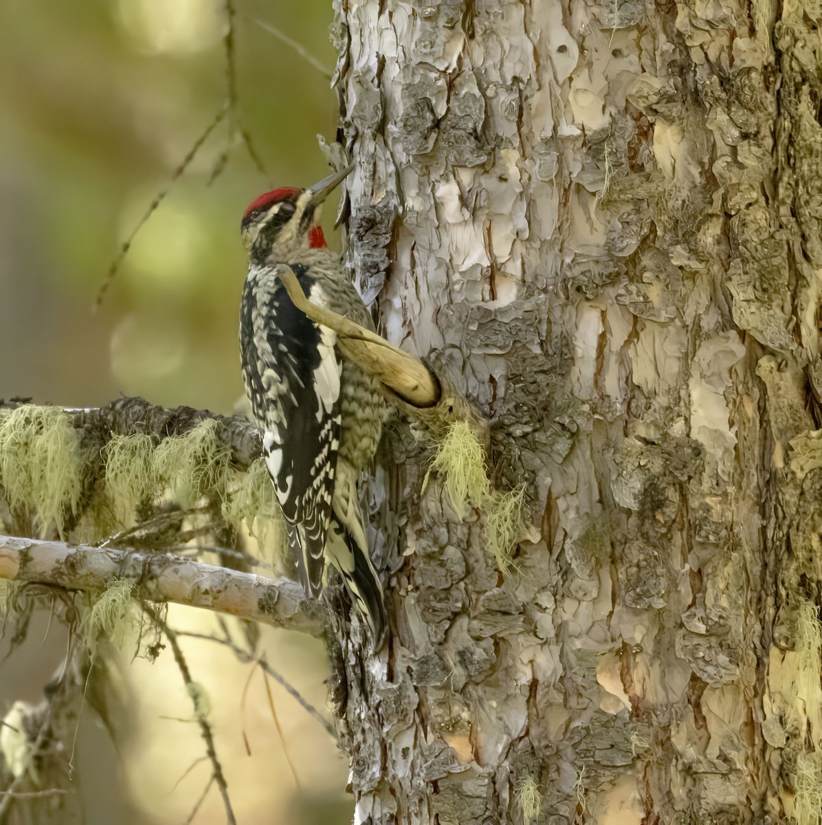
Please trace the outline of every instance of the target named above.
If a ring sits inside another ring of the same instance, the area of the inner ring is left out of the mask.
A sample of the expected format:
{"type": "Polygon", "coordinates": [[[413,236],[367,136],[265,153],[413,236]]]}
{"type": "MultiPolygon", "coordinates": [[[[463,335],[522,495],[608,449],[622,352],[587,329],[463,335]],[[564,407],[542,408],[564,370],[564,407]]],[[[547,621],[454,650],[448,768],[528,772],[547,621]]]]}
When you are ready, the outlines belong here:
{"type": "Polygon", "coordinates": [[[64,538],[66,516],[77,514],[85,464],[68,415],[26,404],[0,411],[0,486],[12,510],[31,516],[46,536],[64,538]]]}

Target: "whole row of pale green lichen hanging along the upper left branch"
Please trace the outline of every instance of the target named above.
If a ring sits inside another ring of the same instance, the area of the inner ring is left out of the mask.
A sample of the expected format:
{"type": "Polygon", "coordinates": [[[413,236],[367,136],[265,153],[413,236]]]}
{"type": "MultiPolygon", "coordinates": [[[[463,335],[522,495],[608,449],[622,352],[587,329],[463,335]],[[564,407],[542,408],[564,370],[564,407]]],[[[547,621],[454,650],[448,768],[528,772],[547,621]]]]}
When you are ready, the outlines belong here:
{"type": "Polygon", "coordinates": [[[244,526],[262,542],[279,522],[265,466],[257,459],[247,469],[234,467],[215,435],[218,426],[204,420],[180,436],[112,434],[95,444],[87,434],[83,441],[60,408],[2,409],[0,495],[7,505],[3,521],[11,522],[6,528],[27,534],[31,526],[35,535],[61,539],[76,533],[75,539],[95,542],[133,529],[149,513],[215,501],[217,512],[210,517],[235,529],[244,526]]]}

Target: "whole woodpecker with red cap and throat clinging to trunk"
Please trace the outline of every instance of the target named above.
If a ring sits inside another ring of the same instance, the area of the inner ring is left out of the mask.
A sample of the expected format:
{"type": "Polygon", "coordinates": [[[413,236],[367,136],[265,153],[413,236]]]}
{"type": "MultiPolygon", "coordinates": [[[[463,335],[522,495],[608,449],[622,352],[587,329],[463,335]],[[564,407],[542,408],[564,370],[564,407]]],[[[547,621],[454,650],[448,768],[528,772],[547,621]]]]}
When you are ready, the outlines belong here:
{"type": "Polygon", "coordinates": [[[288,267],[312,304],[373,329],[317,225],[322,201],[352,168],[308,189],[266,192],[248,206],[241,224],[249,269],[240,351],[246,394],[305,592],[320,595],[326,562],[331,564],[378,649],[388,623],[357,484],[377,450],[385,401],[377,381],[336,347],[336,332],[297,309],[279,280],[288,267]]]}

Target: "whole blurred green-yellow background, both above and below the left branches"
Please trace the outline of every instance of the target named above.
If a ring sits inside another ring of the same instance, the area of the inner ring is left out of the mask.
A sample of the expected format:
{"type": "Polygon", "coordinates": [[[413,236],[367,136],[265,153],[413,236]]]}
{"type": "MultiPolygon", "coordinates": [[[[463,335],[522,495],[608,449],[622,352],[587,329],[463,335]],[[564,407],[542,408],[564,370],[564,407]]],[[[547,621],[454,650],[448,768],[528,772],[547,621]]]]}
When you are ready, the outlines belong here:
{"type": "MultiPolygon", "coordinates": [[[[242,211],[271,186],[326,175],[315,135],[334,139],[337,103],[328,78],[258,22],[297,40],[331,72],[330,0],[235,3],[237,115],[265,174],[228,117],[173,185],[226,99],[222,0],[0,4],[0,398],[79,407],[135,394],[231,413],[242,396],[242,211]],[[223,153],[227,163],[212,181],[223,153]],[[93,312],[120,244],[169,186],[93,312]]],[[[201,621],[180,615],[177,624],[201,621]]],[[[51,626],[41,646],[41,624],[0,663],[3,714],[14,699],[40,700],[59,666],[65,629],[51,626]]],[[[286,634],[265,639],[270,661],[324,709],[321,645],[286,634]]],[[[217,709],[218,748],[241,825],[350,821],[345,765],[322,727],[275,691],[295,779],[259,674],[243,709],[249,667],[209,643],[187,648],[217,709]],[[251,757],[242,730],[251,732],[251,757]]],[[[139,660],[128,672],[140,734],[134,746],[113,759],[93,720],[82,724],[86,821],[185,821],[209,768],[174,787],[203,754],[196,726],[179,721],[190,717],[181,678],[168,656],[154,666],[139,660]]],[[[215,789],[194,821],[225,821],[215,789]]]]}

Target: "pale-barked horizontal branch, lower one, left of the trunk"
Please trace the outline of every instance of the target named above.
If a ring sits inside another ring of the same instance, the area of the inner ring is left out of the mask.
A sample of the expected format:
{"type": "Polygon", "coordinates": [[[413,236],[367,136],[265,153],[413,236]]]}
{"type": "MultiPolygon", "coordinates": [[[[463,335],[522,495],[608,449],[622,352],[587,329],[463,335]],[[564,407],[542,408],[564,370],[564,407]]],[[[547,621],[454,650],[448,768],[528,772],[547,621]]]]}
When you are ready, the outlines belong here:
{"type": "Polygon", "coordinates": [[[0,579],[101,592],[115,578],[134,582],[139,596],[148,601],[216,610],[312,635],[322,631],[320,608],[288,579],[264,578],[161,553],[0,535],[0,579]]]}

